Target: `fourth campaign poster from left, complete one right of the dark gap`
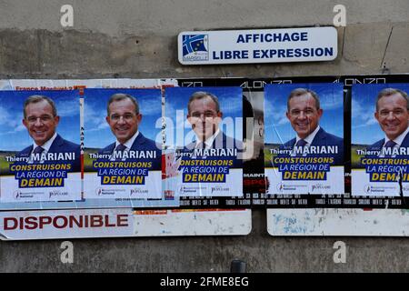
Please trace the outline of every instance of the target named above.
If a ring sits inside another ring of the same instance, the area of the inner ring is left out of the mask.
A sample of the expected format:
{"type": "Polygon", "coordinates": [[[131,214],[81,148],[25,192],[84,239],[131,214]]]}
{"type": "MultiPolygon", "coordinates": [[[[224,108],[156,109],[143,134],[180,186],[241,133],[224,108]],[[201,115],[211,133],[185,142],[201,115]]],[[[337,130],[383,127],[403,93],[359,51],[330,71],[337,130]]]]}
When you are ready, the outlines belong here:
{"type": "Polygon", "coordinates": [[[267,194],[344,194],[343,85],[265,85],[264,121],[267,194]]]}

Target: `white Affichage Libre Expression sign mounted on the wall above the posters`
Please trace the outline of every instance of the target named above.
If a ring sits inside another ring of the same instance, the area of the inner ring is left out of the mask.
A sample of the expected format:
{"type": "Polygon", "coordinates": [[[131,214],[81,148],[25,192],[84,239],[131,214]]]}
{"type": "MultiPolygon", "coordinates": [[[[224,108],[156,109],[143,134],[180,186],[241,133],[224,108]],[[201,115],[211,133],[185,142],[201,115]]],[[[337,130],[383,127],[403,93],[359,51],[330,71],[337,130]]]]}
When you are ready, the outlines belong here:
{"type": "Polygon", "coordinates": [[[187,31],[177,39],[182,65],[332,61],[337,41],[333,26],[187,31]]]}

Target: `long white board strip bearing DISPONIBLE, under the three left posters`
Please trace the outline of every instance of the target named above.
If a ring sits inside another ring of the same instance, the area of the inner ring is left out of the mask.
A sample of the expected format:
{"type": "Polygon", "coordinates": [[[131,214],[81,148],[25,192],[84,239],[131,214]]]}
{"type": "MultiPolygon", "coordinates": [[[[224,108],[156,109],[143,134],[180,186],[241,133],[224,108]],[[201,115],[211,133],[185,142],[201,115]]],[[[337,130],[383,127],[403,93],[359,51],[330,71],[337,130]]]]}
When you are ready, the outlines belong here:
{"type": "Polygon", "coordinates": [[[0,240],[135,236],[245,236],[250,209],[0,211],[0,240]]]}

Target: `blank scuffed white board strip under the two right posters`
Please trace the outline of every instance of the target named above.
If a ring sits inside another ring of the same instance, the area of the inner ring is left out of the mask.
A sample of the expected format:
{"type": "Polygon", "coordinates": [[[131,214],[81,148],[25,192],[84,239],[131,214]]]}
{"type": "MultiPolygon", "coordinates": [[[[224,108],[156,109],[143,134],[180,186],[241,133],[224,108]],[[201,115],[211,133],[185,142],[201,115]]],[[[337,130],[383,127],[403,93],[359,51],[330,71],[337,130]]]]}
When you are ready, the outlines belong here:
{"type": "Polygon", "coordinates": [[[405,209],[267,209],[271,236],[409,236],[405,209]]]}

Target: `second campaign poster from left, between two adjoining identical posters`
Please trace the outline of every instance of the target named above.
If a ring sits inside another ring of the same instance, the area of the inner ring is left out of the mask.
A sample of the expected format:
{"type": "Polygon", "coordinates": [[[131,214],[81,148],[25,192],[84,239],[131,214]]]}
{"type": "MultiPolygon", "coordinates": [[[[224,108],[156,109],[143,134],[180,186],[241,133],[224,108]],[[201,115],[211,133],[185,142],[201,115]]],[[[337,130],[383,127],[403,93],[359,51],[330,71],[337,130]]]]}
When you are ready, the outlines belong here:
{"type": "Polygon", "coordinates": [[[160,89],[85,89],[85,198],[162,197],[160,89]]]}

